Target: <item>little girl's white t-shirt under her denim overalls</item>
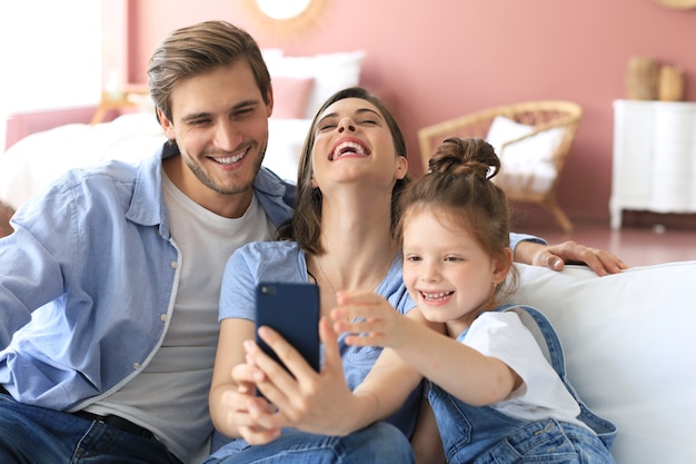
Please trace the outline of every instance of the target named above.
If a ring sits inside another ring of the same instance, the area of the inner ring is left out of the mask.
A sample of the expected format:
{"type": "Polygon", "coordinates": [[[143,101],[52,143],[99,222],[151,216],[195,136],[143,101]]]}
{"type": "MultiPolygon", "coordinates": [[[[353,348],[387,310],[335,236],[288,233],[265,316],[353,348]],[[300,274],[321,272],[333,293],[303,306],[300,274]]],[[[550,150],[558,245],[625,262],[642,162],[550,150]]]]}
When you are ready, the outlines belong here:
{"type": "Polygon", "coordinates": [[[523,379],[519,388],[491,407],[520,419],[553,417],[587,427],[577,418],[580,406],[517,314],[483,313],[474,320],[461,343],[500,359],[523,379]]]}

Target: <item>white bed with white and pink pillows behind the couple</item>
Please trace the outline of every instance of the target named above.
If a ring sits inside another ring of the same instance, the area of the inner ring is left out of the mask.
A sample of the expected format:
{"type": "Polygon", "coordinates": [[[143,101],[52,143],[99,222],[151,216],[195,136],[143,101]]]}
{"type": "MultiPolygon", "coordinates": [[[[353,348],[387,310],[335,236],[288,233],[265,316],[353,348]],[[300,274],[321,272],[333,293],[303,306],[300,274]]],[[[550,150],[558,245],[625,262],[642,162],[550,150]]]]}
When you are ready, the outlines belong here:
{"type": "MultiPolygon", "coordinates": [[[[297,164],[318,107],[335,91],[356,86],[362,51],[287,57],[264,50],[275,108],[264,165],[297,180],[297,164]]],[[[110,159],[138,162],[166,141],[153,111],[98,125],[71,124],[32,134],[0,155],[0,200],[17,209],[68,169],[110,159]]]]}

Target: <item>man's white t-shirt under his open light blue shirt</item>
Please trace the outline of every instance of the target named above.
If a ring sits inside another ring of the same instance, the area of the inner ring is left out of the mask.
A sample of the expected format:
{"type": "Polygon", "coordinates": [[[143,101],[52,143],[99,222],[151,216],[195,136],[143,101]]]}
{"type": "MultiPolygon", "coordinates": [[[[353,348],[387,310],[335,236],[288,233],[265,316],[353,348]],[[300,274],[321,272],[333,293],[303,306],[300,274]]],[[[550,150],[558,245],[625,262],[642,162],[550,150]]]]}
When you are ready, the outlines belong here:
{"type": "MultiPolygon", "coordinates": [[[[162,186],[171,236],[181,256],[169,328],[138,376],[86,409],[116,414],[150,430],[179,460],[189,462],[188,451],[206,446],[212,432],[208,392],[222,270],[237,248],[272,239],[276,228],[256,196],[242,217],[229,219],[192,201],[167,176],[162,186]]],[[[129,343],[128,334],[123,343],[129,343]]]]}

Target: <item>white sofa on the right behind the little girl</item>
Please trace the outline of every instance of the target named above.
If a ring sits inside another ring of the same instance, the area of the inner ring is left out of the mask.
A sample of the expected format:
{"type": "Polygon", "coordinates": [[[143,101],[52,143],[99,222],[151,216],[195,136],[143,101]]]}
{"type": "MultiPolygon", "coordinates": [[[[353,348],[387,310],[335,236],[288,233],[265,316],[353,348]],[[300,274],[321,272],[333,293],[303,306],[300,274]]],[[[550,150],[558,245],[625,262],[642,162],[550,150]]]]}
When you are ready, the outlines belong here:
{"type": "Polygon", "coordinates": [[[558,332],[568,378],[618,427],[618,464],[696,463],[696,261],[598,277],[518,266],[509,300],[537,307],[558,332]]]}

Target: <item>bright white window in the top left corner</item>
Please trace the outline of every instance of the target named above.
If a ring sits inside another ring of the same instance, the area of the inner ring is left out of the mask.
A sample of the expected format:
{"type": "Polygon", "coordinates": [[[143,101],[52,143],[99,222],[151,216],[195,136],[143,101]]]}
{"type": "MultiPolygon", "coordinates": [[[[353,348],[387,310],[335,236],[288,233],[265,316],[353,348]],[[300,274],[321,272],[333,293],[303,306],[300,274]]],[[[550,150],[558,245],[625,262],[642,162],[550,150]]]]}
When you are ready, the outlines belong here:
{"type": "Polygon", "coordinates": [[[101,53],[100,1],[0,2],[0,118],[97,105],[101,53]]]}

